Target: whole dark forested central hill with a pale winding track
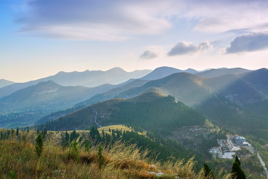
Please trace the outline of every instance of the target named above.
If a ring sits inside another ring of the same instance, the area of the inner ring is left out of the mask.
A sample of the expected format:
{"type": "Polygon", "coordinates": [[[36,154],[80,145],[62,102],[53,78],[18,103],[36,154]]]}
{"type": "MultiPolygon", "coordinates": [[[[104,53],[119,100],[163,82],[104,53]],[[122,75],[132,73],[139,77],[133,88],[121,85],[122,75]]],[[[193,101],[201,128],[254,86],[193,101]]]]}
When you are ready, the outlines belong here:
{"type": "Polygon", "coordinates": [[[39,128],[73,130],[120,123],[144,129],[156,127],[164,132],[187,125],[202,125],[204,121],[201,113],[182,102],[176,102],[173,96],[148,92],[131,99],[116,98],[96,103],[39,128]]]}

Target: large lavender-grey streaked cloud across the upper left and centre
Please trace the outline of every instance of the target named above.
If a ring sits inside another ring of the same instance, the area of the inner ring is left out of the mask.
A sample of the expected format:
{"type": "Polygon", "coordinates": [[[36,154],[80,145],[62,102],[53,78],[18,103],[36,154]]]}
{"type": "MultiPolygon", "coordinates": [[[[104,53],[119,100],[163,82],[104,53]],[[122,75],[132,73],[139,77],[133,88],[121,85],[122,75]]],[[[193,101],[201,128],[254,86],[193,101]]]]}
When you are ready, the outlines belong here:
{"type": "Polygon", "coordinates": [[[19,32],[120,41],[170,28],[177,5],[176,0],[31,0],[16,21],[23,24],[19,32]]]}

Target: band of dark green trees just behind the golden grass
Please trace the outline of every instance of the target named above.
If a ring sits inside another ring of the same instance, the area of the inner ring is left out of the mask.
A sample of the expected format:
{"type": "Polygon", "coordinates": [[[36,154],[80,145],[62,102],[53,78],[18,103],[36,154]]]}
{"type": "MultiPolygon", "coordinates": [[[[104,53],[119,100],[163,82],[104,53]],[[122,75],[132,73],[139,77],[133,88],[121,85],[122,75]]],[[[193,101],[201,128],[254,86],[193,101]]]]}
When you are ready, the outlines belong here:
{"type": "MultiPolygon", "coordinates": [[[[161,137],[157,139],[150,139],[144,135],[140,135],[135,131],[121,131],[121,130],[111,130],[111,134],[101,133],[96,127],[91,127],[89,132],[90,140],[87,137],[84,137],[84,147],[88,148],[89,145],[114,145],[116,141],[121,141],[127,144],[135,144],[140,151],[145,151],[149,149],[147,155],[151,160],[170,160],[172,159],[185,159],[188,160],[195,155],[195,160],[198,161],[197,165],[201,168],[202,163],[204,163],[203,155],[197,153],[194,150],[187,150],[184,146],[176,142],[175,140],[165,140],[161,137]]],[[[76,140],[79,137],[82,140],[83,136],[79,135],[75,130],[69,134],[65,132],[63,135],[63,145],[69,146],[72,141],[76,140]]]]}

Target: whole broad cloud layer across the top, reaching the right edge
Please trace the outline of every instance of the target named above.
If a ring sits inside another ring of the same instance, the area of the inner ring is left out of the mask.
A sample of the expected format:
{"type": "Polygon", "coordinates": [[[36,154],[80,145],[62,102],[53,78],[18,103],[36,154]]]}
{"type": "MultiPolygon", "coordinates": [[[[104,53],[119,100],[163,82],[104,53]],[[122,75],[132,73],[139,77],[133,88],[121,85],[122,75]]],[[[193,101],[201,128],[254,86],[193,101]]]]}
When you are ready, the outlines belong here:
{"type": "Polygon", "coordinates": [[[206,33],[268,30],[266,0],[26,1],[19,32],[52,38],[122,41],[164,33],[181,21],[206,33]]]}

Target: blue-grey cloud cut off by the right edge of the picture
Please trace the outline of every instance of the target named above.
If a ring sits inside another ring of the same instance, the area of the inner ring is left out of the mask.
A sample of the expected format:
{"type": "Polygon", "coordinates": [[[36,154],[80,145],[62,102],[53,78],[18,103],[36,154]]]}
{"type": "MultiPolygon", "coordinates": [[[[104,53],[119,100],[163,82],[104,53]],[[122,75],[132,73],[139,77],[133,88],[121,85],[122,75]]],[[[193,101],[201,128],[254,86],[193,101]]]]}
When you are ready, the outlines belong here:
{"type": "Polygon", "coordinates": [[[268,48],[268,32],[243,34],[235,37],[226,53],[252,52],[268,48]]]}

